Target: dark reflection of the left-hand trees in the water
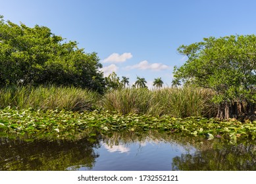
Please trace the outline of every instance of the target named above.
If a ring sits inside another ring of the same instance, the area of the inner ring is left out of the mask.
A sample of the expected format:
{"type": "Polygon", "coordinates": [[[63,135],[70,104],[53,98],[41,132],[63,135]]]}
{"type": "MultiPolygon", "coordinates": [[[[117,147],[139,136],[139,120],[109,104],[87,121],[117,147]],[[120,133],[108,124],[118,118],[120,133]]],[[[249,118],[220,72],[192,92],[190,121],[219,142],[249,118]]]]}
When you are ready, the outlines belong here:
{"type": "Polygon", "coordinates": [[[78,141],[33,141],[0,139],[0,170],[77,170],[92,168],[99,147],[85,137],[78,141]]]}

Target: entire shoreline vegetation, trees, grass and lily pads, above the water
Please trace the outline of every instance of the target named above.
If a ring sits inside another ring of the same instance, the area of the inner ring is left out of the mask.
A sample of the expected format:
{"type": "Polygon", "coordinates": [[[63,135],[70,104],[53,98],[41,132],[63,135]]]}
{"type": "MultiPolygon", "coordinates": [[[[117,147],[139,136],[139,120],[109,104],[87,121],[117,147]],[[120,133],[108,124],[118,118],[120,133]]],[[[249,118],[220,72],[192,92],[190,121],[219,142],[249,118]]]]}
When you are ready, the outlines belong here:
{"type": "Polygon", "coordinates": [[[65,137],[159,129],[255,139],[255,45],[255,35],[181,45],[177,51],[187,60],[174,66],[173,87],[156,78],[149,90],[137,76],[128,88],[129,78],[105,77],[97,53],[76,41],[0,15],[0,133],[65,137]]]}

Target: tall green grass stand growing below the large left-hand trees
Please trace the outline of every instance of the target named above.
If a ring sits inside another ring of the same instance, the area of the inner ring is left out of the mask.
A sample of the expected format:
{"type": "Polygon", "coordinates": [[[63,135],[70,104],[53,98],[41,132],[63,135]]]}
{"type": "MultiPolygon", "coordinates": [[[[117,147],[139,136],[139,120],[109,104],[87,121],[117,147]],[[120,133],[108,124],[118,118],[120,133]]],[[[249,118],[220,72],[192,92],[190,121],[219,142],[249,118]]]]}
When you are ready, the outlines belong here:
{"type": "Polygon", "coordinates": [[[12,86],[0,89],[0,108],[90,110],[98,98],[97,93],[77,87],[12,86]]]}

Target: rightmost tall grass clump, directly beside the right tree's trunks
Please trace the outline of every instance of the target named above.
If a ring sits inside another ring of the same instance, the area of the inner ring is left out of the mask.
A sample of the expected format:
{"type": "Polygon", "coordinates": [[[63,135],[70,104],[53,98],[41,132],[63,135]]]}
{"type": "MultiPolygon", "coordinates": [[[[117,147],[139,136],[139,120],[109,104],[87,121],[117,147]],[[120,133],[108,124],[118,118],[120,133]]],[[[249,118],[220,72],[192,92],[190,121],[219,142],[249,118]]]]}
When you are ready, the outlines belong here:
{"type": "Polygon", "coordinates": [[[195,87],[170,87],[153,91],[148,114],[174,117],[207,116],[217,112],[212,103],[213,93],[207,89],[195,87]]]}

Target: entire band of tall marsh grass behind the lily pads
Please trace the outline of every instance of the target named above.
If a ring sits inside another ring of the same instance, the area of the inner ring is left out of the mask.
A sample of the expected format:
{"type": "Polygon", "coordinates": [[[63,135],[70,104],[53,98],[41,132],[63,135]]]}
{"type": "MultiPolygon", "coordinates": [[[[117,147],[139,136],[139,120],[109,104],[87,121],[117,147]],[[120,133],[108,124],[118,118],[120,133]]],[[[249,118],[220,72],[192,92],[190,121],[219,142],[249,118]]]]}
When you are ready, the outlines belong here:
{"type": "Polygon", "coordinates": [[[147,114],[152,116],[206,116],[216,115],[217,106],[211,102],[213,93],[194,87],[168,87],[149,90],[125,88],[99,95],[78,87],[9,86],[0,89],[0,108],[64,109],[72,111],[103,108],[120,114],[147,114]]]}

